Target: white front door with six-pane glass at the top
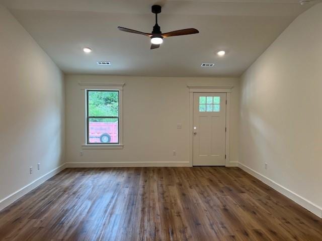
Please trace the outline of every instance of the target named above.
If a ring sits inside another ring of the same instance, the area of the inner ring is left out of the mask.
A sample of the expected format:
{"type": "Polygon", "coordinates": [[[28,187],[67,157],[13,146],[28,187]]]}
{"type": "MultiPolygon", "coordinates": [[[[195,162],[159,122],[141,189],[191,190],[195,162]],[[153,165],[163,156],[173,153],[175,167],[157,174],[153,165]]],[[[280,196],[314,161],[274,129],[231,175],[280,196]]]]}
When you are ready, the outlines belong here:
{"type": "Polygon", "coordinates": [[[226,93],[194,93],[193,165],[224,166],[226,93]]]}

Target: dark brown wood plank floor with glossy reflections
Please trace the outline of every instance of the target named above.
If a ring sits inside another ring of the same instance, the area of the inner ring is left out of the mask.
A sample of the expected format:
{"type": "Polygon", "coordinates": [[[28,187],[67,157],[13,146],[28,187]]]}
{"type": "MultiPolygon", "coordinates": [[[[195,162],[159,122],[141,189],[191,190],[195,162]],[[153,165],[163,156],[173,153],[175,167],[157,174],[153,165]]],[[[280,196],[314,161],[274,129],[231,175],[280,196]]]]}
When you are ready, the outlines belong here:
{"type": "Polygon", "coordinates": [[[238,168],[65,169],[0,212],[0,240],[322,240],[322,220],[238,168]]]}

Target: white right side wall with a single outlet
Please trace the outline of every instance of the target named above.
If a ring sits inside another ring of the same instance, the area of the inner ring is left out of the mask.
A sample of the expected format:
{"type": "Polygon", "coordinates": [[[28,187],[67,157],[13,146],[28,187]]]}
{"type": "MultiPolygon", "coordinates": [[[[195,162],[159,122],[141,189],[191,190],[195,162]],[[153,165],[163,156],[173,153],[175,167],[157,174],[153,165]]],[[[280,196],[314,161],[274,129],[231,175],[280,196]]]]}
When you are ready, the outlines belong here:
{"type": "Polygon", "coordinates": [[[241,79],[241,167],[322,216],[322,4],[300,15],[241,79]]]}

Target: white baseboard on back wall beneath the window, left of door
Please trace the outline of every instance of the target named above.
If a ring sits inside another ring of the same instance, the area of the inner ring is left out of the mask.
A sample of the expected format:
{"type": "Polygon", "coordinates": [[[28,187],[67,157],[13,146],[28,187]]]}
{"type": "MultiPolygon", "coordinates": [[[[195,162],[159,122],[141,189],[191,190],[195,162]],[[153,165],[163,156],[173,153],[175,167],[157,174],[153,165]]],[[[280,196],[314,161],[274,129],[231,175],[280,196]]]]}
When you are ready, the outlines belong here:
{"type": "Polygon", "coordinates": [[[190,167],[190,162],[67,162],[66,167],[190,167]]]}

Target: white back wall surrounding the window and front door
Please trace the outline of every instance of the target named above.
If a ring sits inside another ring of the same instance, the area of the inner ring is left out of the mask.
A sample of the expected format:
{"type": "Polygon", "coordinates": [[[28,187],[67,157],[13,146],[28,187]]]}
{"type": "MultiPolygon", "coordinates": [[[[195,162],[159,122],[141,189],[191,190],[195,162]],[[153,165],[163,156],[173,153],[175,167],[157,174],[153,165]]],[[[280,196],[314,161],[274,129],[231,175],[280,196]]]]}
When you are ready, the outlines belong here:
{"type": "Polygon", "coordinates": [[[239,79],[237,78],[66,75],[65,83],[68,166],[79,166],[81,165],[79,163],[83,163],[81,166],[189,166],[188,83],[234,86],[230,109],[230,162],[238,161],[239,79]],[[85,144],[85,90],[81,89],[78,82],[125,83],[124,149],[81,149],[85,144]],[[182,124],[182,129],[177,129],[177,124],[182,124]],[[177,151],[177,156],[173,156],[173,150],[177,151]],[[80,156],[81,151],[84,152],[83,157],[80,156]],[[93,164],[98,162],[100,164],[93,164]],[[84,163],[90,164],[84,165],[84,163]]]}

